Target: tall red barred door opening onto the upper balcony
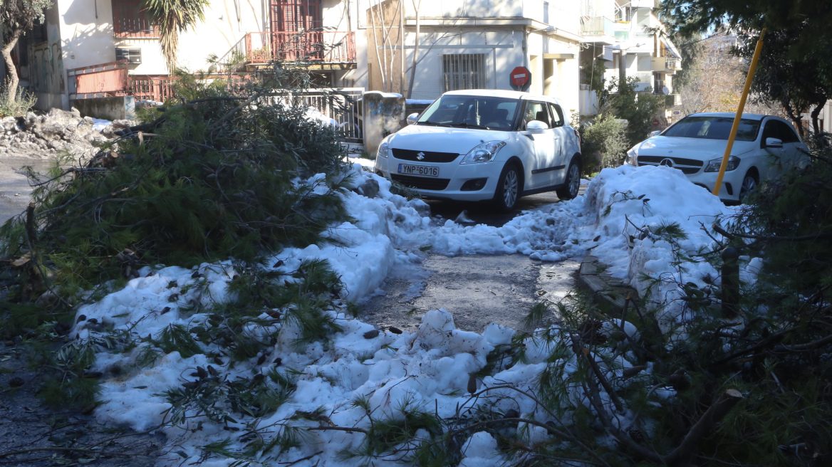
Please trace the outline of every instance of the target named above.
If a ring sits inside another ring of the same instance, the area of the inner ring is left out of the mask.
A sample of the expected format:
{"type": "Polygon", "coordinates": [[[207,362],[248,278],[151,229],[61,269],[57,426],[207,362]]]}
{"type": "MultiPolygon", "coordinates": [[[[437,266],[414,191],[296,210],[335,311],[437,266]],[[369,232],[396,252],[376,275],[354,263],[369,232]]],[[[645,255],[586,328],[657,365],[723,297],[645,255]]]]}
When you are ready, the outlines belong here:
{"type": "Polygon", "coordinates": [[[309,55],[319,59],[314,44],[324,42],[321,31],[320,0],[270,0],[271,46],[275,58],[297,61],[309,55]]]}

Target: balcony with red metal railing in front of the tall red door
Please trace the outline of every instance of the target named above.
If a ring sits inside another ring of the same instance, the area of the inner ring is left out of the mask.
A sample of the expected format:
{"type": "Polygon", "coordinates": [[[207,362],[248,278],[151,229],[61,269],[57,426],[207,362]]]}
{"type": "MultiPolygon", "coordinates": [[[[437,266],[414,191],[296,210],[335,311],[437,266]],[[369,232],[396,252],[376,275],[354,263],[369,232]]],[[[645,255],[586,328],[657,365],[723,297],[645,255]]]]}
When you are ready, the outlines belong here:
{"type": "Polygon", "coordinates": [[[355,33],[249,32],[220,58],[220,63],[232,61],[254,66],[290,61],[303,62],[310,69],[352,69],[356,66],[355,33]]]}

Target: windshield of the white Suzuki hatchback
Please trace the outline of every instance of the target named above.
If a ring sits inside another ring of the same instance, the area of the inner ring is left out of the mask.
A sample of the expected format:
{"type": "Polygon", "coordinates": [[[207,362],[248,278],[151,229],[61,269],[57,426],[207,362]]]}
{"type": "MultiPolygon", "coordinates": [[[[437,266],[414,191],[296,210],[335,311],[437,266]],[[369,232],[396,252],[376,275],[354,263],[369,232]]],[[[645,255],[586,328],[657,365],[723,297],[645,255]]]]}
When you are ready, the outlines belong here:
{"type": "Polygon", "coordinates": [[[520,101],[505,97],[445,95],[433,102],[418,125],[511,130],[520,101]]]}

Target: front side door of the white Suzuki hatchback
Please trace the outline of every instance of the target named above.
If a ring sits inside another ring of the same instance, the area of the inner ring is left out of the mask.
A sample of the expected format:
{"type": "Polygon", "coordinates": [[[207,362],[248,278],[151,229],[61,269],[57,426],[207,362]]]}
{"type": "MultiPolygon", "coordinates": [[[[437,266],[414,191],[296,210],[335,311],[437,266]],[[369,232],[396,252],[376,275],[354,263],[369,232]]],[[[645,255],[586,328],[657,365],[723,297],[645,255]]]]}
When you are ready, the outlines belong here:
{"type": "Polygon", "coordinates": [[[523,120],[520,122],[521,135],[532,140],[534,156],[532,158],[532,179],[527,184],[529,188],[540,188],[554,184],[554,173],[557,170],[557,156],[560,148],[555,145],[557,135],[552,128],[552,119],[546,102],[527,101],[523,120]],[[526,130],[526,125],[532,120],[542,121],[547,125],[546,130],[526,130]]]}

